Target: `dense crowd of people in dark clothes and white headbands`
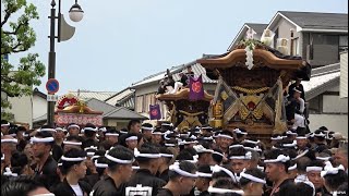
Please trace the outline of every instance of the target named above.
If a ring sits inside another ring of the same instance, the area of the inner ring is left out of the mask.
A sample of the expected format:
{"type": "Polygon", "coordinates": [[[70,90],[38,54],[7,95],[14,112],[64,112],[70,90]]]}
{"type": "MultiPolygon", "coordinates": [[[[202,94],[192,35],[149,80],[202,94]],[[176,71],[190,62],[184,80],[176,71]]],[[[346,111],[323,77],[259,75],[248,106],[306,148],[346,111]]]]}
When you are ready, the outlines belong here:
{"type": "Polygon", "coordinates": [[[131,120],[127,128],[1,121],[3,196],[348,195],[348,143],[325,126],[263,143],[244,128],[179,132],[131,120]]]}

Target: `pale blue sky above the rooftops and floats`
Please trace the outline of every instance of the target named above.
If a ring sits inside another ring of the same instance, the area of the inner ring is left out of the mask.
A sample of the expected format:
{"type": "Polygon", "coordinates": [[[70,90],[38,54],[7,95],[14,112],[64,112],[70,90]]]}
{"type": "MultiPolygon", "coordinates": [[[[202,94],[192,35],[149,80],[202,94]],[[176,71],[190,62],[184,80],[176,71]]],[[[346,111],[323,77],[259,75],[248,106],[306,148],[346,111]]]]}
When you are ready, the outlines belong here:
{"type": "MultiPolygon", "coordinates": [[[[40,15],[32,23],[37,42],[29,52],[39,53],[47,65],[51,0],[27,1],[40,15]]],[[[347,0],[79,0],[85,14],[74,23],[68,15],[73,3],[62,0],[65,21],[76,29],[56,45],[59,95],[119,91],[203,53],[222,53],[245,22],[269,23],[280,10],[348,13],[347,0]]],[[[46,93],[47,75],[41,81],[39,89],[46,93]]]]}

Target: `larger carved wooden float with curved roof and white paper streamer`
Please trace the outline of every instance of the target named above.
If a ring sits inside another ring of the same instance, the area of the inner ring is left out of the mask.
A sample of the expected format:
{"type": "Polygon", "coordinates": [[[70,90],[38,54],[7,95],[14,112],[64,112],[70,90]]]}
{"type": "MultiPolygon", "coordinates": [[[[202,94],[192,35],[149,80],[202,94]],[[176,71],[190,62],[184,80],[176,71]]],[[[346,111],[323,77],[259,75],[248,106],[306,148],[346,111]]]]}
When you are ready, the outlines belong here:
{"type": "Polygon", "coordinates": [[[218,79],[210,105],[212,126],[243,127],[249,135],[269,138],[288,130],[284,91],[291,79],[310,79],[310,65],[300,57],[249,39],[232,51],[196,61],[212,79],[218,79]]]}

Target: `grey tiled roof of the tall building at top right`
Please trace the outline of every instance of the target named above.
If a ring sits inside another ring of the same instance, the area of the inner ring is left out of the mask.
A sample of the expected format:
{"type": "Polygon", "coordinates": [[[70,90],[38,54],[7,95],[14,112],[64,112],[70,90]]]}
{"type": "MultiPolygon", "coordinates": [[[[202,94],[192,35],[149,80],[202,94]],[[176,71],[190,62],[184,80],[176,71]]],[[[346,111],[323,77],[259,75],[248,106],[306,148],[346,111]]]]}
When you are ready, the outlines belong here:
{"type": "Polygon", "coordinates": [[[348,13],[290,12],[279,11],[302,28],[347,29],[348,13]]]}

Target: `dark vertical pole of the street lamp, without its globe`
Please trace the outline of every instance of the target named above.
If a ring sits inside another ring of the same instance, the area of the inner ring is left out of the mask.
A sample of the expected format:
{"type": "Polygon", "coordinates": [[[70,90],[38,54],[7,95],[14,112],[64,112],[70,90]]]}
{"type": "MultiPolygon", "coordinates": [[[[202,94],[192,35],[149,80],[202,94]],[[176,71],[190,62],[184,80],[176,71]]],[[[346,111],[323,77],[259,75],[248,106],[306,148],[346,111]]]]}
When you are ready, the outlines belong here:
{"type": "MultiPolygon", "coordinates": [[[[56,52],[55,52],[55,20],[56,20],[56,2],[51,2],[50,19],[50,51],[48,53],[48,78],[55,78],[56,75],[56,52]]],[[[53,101],[47,102],[47,124],[51,127],[55,125],[55,103],[53,101]]]]}

